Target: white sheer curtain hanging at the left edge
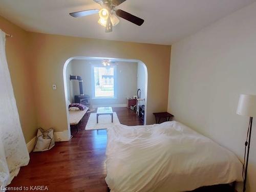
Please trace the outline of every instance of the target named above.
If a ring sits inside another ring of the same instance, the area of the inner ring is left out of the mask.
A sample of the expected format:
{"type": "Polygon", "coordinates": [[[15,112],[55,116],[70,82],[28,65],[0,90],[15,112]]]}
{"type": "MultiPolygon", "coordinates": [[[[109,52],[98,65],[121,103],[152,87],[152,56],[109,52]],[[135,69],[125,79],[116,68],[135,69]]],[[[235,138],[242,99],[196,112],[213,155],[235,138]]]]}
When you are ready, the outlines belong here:
{"type": "Polygon", "coordinates": [[[8,185],[20,166],[29,162],[6,60],[5,38],[0,29],[0,186],[8,185]]]}

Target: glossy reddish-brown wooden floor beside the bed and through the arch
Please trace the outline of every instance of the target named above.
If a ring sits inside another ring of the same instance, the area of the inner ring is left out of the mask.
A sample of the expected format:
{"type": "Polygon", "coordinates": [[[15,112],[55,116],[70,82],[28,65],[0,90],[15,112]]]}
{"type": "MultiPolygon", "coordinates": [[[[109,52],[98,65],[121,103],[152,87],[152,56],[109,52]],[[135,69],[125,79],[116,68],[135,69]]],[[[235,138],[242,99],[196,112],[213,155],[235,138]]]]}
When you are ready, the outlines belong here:
{"type": "MultiPolygon", "coordinates": [[[[120,123],[141,125],[134,111],[113,108],[120,123]]],[[[47,186],[49,191],[105,192],[106,131],[84,131],[88,117],[82,119],[79,132],[72,130],[73,138],[57,142],[48,152],[30,154],[28,166],[22,167],[9,186],[47,186]]],[[[230,191],[227,186],[201,188],[197,192],[230,191]],[[217,188],[216,188],[217,187],[217,188]]]]}

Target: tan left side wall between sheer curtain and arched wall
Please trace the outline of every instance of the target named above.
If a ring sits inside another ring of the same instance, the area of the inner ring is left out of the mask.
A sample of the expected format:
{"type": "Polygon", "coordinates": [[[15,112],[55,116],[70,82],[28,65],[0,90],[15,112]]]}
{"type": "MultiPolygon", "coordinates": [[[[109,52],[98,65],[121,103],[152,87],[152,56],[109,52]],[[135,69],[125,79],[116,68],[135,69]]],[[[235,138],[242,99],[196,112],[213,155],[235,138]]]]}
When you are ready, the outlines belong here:
{"type": "Polygon", "coordinates": [[[25,140],[28,142],[35,136],[37,129],[32,91],[32,70],[28,59],[29,53],[26,49],[29,34],[1,16],[0,29],[13,35],[6,39],[6,55],[20,123],[25,140]]]}

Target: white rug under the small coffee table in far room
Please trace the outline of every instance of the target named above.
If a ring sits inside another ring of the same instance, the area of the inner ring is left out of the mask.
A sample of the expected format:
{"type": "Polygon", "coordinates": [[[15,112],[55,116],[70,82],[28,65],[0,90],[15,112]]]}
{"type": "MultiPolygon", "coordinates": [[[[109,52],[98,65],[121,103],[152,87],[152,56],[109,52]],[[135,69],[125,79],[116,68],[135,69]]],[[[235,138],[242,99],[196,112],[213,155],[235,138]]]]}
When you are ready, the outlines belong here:
{"type": "Polygon", "coordinates": [[[99,115],[99,123],[97,123],[96,113],[91,113],[86,124],[86,130],[104,130],[114,127],[115,124],[120,124],[115,112],[113,112],[113,123],[111,115],[99,115]]]}

